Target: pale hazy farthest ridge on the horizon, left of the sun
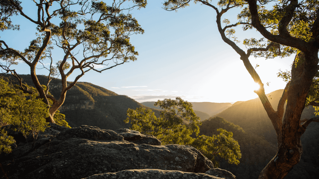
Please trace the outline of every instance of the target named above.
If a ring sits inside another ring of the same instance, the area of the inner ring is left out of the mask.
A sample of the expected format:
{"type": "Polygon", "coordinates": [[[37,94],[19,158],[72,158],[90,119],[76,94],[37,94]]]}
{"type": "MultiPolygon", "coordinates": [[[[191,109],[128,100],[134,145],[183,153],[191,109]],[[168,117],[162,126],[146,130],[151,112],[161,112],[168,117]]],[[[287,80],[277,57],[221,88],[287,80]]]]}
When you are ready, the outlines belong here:
{"type": "Polygon", "coordinates": [[[210,116],[213,116],[221,111],[226,110],[231,103],[211,103],[211,102],[191,102],[193,104],[193,110],[202,111],[210,116]]]}

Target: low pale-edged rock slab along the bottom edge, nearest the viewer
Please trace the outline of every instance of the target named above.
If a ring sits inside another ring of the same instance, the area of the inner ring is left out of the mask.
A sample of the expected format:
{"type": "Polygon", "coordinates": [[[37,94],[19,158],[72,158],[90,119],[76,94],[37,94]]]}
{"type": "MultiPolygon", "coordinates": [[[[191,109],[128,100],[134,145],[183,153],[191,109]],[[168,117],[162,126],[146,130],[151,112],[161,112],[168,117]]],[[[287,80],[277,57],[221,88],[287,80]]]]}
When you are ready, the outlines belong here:
{"type": "Polygon", "coordinates": [[[116,173],[96,174],[85,179],[221,179],[204,173],[190,173],[176,170],[140,169],[123,170],[116,173]]]}

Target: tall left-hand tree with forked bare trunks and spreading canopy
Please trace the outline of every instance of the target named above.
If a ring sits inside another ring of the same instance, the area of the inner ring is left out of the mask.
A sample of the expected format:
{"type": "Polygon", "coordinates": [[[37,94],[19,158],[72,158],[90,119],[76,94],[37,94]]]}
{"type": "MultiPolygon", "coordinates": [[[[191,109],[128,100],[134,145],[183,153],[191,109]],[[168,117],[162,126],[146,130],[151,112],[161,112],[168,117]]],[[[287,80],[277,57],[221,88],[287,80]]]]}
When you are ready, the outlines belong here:
{"type": "Polygon", "coordinates": [[[0,61],[0,67],[4,73],[11,73],[19,80],[20,89],[24,93],[33,94],[12,69],[12,65],[18,64],[19,61],[30,67],[38,97],[49,108],[47,122],[54,123],[54,114],[63,104],[67,90],[86,72],[94,70],[101,73],[137,59],[138,53],[130,43],[130,35],[144,33],[144,30],[132,17],[130,10],[145,8],[147,3],[146,0],[114,0],[111,5],[98,0],[38,0],[30,3],[34,3],[38,9],[34,12],[37,19],[24,13],[19,0],[0,1],[1,31],[19,30],[20,26],[13,25],[11,21],[13,15],[19,15],[21,19],[37,25],[37,38],[32,40],[23,52],[10,47],[11,43],[16,42],[0,40],[0,60],[3,61],[0,61]],[[56,21],[59,21],[59,24],[53,23],[56,21]],[[55,62],[53,53],[64,54],[63,60],[55,62]],[[71,62],[68,63],[67,60],[71,62]],[[114,63],[107,66],[109,61],[114,63]],[[50,66],[46,67],[45,63],[50,66]],[[36,75],[36,68],[39,66],[48,70],[46,90],[36,75]],[[101,66],[104,69],[97,68],[101,66]],[[68,84],[67,78],[76,70],[78,75],[68,84]],[[50,81],[58,76],[62,79],[62,89],[60,97],[56,98],[49,95],[48,91],[50,81]],[[53,101],[51,106],[48,99],[53,101]]]}

